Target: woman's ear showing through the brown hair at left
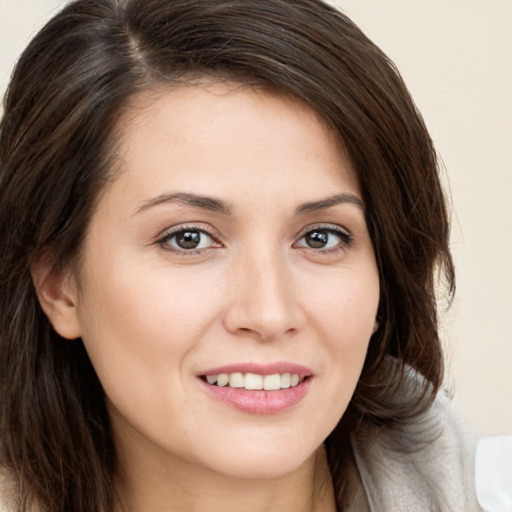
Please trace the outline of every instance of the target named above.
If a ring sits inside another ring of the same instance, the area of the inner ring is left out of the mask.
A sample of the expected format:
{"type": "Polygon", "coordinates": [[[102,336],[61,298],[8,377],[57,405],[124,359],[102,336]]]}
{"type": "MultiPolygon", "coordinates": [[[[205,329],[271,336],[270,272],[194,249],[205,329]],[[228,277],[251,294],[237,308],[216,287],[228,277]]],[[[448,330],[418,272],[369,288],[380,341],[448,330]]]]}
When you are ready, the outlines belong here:
{"type": "Polygon", "coordinates": [[[79,338],[78,294],[70,272],[57,268],[47,250],[37,254],[31,272],[39,303],[53,328],[63,338],[79,338]]]}

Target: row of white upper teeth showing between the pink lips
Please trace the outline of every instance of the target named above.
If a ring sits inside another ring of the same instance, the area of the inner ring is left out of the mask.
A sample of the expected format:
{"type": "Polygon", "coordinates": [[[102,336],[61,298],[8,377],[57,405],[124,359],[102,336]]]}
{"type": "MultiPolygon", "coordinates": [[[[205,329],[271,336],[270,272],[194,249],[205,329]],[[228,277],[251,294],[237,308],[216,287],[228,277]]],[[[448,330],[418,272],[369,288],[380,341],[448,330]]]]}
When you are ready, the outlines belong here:
{"type": "Polygon", "coordinates": [[[273,375],[246,373],[244,375],[241,372],[235,372],[206,376],[208,384],[217,384],[217,386],[221,387],[229,385],[231,388],[245,388],[249,390],[264,389],[266,391],[293,388],[302,380],[296,373],[274,373],[273,375]]]}

